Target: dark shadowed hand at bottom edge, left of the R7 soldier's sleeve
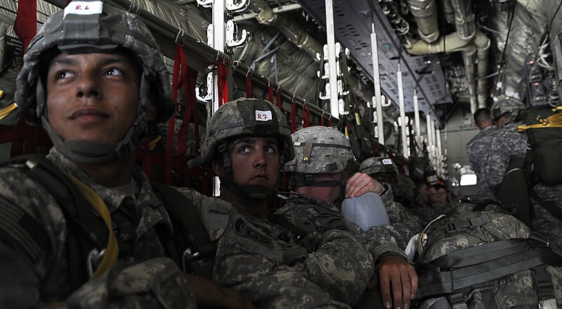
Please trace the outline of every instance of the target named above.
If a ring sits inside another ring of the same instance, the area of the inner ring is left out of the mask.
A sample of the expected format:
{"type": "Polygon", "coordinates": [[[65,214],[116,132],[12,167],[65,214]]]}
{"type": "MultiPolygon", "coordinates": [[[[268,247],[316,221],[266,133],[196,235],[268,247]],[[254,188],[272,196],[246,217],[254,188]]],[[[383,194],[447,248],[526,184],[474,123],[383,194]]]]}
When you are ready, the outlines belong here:
{"type": "Polygon", "coordinates": [[[195,294],[195,298],[197,298],[197,307],[257,308],[253,303],[244,298],[240,292],[220,287],[207,278],[185,274],[185,279],[188,280],[189,287],[193,294],[195,294]]]}

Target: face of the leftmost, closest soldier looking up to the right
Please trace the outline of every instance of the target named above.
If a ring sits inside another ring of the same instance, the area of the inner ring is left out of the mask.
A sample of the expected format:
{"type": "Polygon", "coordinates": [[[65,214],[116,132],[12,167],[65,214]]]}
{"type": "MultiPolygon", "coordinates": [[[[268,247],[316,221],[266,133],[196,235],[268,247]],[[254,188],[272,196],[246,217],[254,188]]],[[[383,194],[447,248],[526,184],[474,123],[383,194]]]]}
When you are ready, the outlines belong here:
{"type": "Polygon", "coordinates": [[[48,122],[63,140],[118,143],[136,119],[140,74],[121,53],[61,53],[48,67],[48,122]]]}

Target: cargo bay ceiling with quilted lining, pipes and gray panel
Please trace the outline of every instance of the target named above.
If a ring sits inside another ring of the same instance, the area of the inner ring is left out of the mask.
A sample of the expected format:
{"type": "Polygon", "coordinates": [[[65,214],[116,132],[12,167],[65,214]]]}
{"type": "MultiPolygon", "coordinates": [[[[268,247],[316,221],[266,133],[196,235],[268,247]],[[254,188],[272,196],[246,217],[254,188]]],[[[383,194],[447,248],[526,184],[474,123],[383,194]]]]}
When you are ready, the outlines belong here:
{"type": "MultiPolygon", "coordinates": [[[[105,1],[138,4],[195,39],[207,41],[211,9],[195,0],[105,1]]],[[[50,14],[41,6],[44,2],[38,1],[39,24],[50,14]]],[[[58,7],[66,3],[46,2],[58,7]]],[[[1,20],[13,23],[17,1],[0,0],[0,4],[1,20]]],[[[545,50],[562,28],[562,17],[556,18],[562,16],[560,0],[334,0],[333,4],[336,41],[350,51],[349,86],[361,114],[367,114],[365,103],[374,93],[373,23],[381,88],[394,103],[384,108],[387,121],[398,116],[400,64],[406,112],[413,111],[416,89],[421,112],[433,114],[441,128],[456,108],[490,107],[492,96],[502,93],[520,96],[523,63],[528,55],[549,60],[545,50]],[[551,35],[546,37],[548,32],[551,35]]],[[[326,42],[324,6],[325,0],[251,0],[245,10],[228,17],[237,22],[239,31],[251,32],[251,40],[227,53],[308,103],[327,109],[327,103],[318,99],[322,84],[315,57],[326,42]]]]}

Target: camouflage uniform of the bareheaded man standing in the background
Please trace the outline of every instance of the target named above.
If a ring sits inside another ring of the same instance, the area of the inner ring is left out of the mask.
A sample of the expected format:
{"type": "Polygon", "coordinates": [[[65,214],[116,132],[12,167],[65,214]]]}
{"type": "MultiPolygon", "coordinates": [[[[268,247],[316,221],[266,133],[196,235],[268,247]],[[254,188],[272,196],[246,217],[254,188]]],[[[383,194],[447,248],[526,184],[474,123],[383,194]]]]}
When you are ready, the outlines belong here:
{"type": "Polygon", "coordinates": [[[490,164],[490,147],[494,143],[497,132],[496,126],[488,126],[478,132],[466,144],[466,155],[469,157],[471,169],[478,177],[478,193],[481,195],[494,194],[492,189],[490,189],[490,185],[488,185],[485,168],[490,164]]]}

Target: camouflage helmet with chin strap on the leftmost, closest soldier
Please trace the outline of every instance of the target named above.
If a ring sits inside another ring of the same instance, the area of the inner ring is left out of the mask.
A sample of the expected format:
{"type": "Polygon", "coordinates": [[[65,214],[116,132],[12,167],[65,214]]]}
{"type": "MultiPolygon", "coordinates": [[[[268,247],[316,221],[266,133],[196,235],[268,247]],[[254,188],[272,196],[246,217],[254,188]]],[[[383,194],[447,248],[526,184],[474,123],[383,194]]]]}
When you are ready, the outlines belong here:
{"type": "Polygon", "coordinates": [[[150,102],[157,109],[152,124],[168,119],[174,112],[169,72],[158,45],[148,28],[133,13],[104,6],[102,1],[70,3],[63,11],[51,15],[32,39],[24,55],[15,101],[20,113],[32,124],[42,124],[53,145],[70,159],[89,164],[107,162],[136,149],[148,133],[145,108],[150,102]],[[87,4],[84,4],[87,2],[87,4]],[[107,144],[86,140],[63,140],[48,123],[46,110],[46,67],[58,52],[131,53],[141,66],[136,119],[119,143],[107,144]],[[153,100],[152,100],[153,99],[153,100]]]}

